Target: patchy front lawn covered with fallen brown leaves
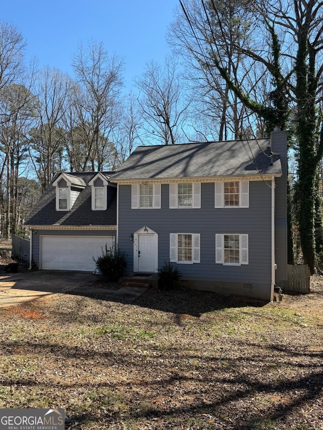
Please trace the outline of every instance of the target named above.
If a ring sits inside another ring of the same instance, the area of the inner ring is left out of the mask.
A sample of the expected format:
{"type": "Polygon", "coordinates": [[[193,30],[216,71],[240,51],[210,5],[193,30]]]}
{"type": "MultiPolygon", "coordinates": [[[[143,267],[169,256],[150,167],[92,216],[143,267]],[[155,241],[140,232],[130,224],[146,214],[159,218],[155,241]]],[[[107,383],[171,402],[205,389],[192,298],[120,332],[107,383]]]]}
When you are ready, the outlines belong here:
{"type": "Polygon", "coordinates": [[[63,407],[82,430],[322,429],[321,290],[314,308],[148,290],[1,309],[0,408],[63,407]]]}

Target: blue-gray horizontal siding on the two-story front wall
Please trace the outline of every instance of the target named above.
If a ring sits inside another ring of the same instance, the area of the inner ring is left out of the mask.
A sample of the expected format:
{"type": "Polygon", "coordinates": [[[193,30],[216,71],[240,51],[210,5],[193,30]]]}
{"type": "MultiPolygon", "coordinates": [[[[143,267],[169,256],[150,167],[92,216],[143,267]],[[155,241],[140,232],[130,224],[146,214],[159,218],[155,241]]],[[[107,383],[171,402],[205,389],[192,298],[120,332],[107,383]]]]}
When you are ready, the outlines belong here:
{"type": "Polygon", "coordinates": [[[200,233],[200,263],[178,264],[183,279],[271,285],[271,188],[250,181],[249,208],[214,208],[214,183],[201,183],[200,209],[169,209],[169,185],[161,185],[161,209],[131,209],[131,186],[119,186],[119,247],[133,268],[131,233],[147,225],[158,233],[158,267],[170,259],[170,233],[200,233]],[[216,264],[216,233],[249,235],[249,264],[216,264]]]}

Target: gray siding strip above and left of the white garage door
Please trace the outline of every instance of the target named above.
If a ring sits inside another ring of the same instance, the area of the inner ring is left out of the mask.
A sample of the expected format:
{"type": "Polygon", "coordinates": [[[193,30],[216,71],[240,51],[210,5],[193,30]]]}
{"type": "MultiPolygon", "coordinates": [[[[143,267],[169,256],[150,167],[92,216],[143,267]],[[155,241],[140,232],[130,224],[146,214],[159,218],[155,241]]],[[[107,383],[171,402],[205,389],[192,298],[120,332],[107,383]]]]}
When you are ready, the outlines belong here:
{"type": "Polygon", "coordinates": [[[117,236],[116,230],[36,230],[32,234],[32,259],[39,268],[40,236],[117,236]]]}

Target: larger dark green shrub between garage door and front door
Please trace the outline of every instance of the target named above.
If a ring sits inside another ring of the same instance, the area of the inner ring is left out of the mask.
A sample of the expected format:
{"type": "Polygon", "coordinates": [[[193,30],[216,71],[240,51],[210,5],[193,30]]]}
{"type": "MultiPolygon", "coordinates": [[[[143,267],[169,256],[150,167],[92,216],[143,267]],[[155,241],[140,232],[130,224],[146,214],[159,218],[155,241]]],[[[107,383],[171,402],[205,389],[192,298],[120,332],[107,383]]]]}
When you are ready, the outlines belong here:
{"type": "Polygon", "coordinates": [[[98,257],[96,260],[93,257],[93,260],[102,278],[110,282],[118,282],[127,266],[126,254],[115,247],[108,250],[106,245],[105,252],[102,248],[102,256],[98,257]]]}

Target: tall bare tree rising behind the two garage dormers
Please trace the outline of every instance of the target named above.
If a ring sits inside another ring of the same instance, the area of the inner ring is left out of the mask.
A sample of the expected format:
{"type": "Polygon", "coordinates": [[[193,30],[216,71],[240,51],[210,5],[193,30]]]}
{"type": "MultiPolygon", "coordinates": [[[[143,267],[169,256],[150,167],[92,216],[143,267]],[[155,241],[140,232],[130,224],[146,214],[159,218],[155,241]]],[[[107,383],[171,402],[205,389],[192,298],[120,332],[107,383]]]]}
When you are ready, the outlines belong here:
{"type": "Polygon", "coordinates": [[[115,162],[116,151],[110,136],[118,124],[118,102],[123,60],[110,57],[102,43],[81,44],[73,58],[79,91],[75,93],[78,127],[86,146],[83,169],[101,170],[115,162]]]}

